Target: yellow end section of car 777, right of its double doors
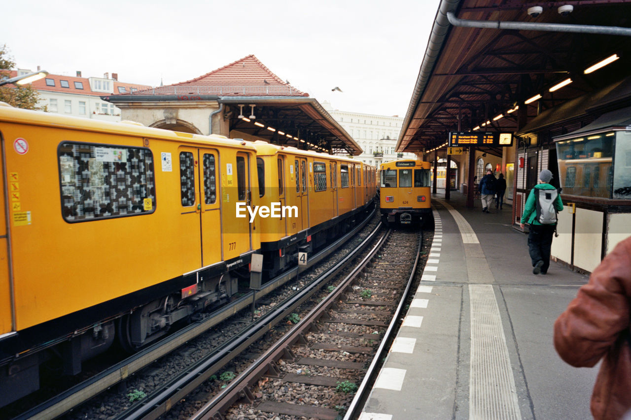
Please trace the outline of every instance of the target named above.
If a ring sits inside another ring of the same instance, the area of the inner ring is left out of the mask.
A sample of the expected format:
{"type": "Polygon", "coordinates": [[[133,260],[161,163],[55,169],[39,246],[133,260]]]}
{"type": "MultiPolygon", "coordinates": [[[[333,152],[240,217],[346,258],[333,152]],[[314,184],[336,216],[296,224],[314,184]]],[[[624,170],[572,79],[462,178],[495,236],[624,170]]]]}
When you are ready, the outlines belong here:
{"type": "Polygon", "coordinates": [[[252,250],[252,224],[249,215],[237,218],[238,202],[245,206],[252,205],[250,155],[238,152],[234,158],[232,156],[220,162],[223,260],[239,257],[252,250]]]}

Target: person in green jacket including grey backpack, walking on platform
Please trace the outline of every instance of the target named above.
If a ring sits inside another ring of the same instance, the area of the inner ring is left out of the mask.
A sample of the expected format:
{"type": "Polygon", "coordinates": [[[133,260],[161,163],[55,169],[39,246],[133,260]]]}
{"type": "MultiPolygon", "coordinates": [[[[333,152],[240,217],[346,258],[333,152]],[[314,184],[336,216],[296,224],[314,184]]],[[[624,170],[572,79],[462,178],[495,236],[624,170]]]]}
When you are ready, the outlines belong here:
{"type": "Polygon", "coordinates": [[[544,169],[539,173],[538,184],[530,190],[519,226],[529,223],[528,253],[533,263],[533,274],[546,274],[550,267],[552,236],[557,230],[557,213],[563,210],[563,201],[555,187],[548,184],[552,173],[544,169]]]}

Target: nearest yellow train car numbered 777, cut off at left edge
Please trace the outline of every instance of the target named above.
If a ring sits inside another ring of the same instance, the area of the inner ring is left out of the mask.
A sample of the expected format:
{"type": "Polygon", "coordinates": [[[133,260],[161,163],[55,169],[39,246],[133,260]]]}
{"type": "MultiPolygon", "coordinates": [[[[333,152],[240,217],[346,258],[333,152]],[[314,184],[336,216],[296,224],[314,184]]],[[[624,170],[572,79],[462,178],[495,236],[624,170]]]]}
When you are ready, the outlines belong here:
{"type": "Polygon", "coordinates": [[[0,106],[0,406],[227,300],[260,248],[256,148],[0,106]],[[220,238],[220,239],[218,239],[220,238]]]}

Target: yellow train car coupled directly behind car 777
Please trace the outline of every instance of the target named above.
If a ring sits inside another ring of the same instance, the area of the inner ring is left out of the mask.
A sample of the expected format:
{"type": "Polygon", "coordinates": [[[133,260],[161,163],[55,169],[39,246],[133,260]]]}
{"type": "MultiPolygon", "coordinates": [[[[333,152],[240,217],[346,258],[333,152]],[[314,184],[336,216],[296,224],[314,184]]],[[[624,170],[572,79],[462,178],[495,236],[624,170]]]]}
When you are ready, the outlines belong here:
{"type": "Polygon", "coordinates": [[[317,251],[349,231],[374,205],[374,188],[360,180],[369,165],[264,141],[254,146],[261,206],[280,209],[280,217],[259,221],[267,277],[296,264],[298,252],[317,251]]]}

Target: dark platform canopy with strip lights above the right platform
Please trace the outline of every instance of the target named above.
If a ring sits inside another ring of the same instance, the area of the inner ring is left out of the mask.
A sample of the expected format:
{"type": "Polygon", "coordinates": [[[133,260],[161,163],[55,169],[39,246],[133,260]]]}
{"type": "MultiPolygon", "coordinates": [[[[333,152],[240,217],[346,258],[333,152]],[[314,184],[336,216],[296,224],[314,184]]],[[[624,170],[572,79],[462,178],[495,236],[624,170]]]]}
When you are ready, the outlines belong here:
{"type": "Polygon", "coordinates": [[[622,0],[440,1],[396,150],[428,151],[449,132],[476,127],[516,132],[541,112],[628,76],[630,16],[631,3],[622,0]]]}

